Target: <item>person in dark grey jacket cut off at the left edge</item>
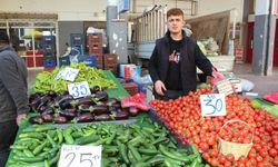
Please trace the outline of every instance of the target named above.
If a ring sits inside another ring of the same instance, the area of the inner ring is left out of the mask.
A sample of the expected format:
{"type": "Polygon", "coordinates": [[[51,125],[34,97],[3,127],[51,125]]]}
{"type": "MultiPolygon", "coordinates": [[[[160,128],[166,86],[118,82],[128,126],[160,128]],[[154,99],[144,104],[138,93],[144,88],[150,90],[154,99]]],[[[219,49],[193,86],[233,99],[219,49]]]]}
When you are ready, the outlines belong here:
{"type": "Polygon", "coordinates": [[[28,111],[26,63],[9,46],[7,32],[0,31],[0,167],[28,111]]]}

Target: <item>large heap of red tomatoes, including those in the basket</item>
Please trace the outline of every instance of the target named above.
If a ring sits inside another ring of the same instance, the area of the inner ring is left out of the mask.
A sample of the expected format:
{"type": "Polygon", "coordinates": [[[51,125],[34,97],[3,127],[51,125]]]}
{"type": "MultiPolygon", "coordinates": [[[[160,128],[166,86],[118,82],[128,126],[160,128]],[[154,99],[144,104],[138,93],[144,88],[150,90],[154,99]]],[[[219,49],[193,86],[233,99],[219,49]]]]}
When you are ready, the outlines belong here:
{"type": "Polygon", "coordinates": [[[202,153],[203,159],[212,166],[222,167],[271,167],[278,166],[278,118],[261,109],[254,109],[249,99],[232,94],[226,96],[226,116],[202,117],[200,95],[210,94],[211,88],[205,87],[177,100],[152,100],[150,105],[156,109],[165,125],[178,134],[182,141],[193,144],[202,153]],[[228,120],[242,120],[241,125],[225,126],[228,120]],[[254,145],[247,157],[222,155],[218,147],[219,138],[227,141],[254,145]]]}

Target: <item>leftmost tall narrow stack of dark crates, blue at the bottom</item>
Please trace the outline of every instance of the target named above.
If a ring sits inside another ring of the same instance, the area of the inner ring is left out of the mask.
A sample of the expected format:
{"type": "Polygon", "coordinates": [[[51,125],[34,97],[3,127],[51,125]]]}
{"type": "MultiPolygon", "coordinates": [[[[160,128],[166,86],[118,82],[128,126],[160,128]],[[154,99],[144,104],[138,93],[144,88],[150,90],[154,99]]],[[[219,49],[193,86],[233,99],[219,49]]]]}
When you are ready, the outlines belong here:
{"type": "Polygon", "coordinates": [[[56,67],[56,38],[54,36],[42,37],[42,49],[43,49],[43,67],[54,68],[56,67]]]}

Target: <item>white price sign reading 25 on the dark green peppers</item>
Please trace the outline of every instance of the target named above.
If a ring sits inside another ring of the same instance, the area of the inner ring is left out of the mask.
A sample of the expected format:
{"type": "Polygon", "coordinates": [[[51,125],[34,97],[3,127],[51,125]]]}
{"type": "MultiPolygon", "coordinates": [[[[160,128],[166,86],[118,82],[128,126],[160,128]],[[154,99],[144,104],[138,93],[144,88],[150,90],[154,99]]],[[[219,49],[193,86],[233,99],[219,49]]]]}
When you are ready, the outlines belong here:
{"type": "Polygon", "coordinates": [[[62,145],[58,167],[100,167],[101,146],[62,145]]]}

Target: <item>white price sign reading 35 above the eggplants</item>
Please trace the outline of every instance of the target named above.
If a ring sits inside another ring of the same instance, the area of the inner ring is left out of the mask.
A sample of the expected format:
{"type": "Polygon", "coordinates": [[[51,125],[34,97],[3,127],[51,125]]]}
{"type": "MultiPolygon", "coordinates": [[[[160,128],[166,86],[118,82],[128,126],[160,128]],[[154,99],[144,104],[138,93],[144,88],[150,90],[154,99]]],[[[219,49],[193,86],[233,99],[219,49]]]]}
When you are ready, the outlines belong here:
{"type": "Polygon", "coordinates": [[[68,90],[75,99],[91,95],[88,81],[70,84],[68,90]]]}

